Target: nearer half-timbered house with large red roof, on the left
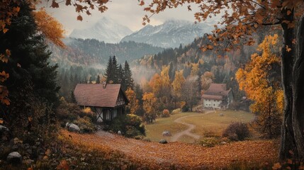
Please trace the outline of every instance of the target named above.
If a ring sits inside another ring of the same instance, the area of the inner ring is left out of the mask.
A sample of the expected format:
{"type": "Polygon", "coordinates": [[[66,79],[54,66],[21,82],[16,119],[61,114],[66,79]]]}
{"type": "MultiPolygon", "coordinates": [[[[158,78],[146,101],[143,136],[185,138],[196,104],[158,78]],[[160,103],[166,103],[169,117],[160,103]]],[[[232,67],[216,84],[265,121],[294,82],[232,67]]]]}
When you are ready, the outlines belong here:
{"type": "Polygon", "coordinates": [[[74,90],[78,106],[90,107],[97,122],[111,121],[125,114],[128,98],[120,84],[77,84],[74,90]]]}

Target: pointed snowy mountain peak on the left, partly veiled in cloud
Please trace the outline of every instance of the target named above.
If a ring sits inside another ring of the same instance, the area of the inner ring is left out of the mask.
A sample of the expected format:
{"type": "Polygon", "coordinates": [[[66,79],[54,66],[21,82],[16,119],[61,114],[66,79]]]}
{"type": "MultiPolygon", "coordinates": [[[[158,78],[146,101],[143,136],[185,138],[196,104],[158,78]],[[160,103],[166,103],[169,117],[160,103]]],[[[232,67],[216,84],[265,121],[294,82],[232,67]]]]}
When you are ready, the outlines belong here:
{"type": "Polygon", "coordinates": [[[70,38],[96,39],[108,43],[118,43],[125,35],[133,33],[126,26],[122,26],[110,18],[103,17],[94,26],[86,29],[74,29],[70,38]]]}

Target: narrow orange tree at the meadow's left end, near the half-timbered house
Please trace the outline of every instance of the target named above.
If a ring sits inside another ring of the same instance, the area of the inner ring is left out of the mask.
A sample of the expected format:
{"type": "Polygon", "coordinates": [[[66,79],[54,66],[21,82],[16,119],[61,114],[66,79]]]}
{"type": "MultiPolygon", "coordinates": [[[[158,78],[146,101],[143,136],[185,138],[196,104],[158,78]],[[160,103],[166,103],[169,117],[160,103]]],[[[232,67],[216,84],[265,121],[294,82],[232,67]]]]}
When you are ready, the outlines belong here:
{"type": "Polygon", "coordinates": [[[157,117],[157,98],[153,93],[145,93],[142,96],[142,101],[144,101],[144,119],[147,123],[152,123],[157,117]]]}

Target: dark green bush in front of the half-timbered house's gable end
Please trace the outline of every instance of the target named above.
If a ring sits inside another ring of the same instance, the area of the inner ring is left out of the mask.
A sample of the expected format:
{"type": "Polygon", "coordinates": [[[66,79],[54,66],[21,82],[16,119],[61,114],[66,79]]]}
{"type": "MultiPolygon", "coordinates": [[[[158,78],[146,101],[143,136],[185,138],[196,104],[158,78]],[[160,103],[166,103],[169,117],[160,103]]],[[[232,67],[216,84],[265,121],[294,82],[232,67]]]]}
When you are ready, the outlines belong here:
{"type": "Polygon", "coordinates": [[[142,125],[142,120],[137,115],[120,115],[114,118],[108,130],[120,130],[125,137],[145,136],[145,125],[142,125]]]}

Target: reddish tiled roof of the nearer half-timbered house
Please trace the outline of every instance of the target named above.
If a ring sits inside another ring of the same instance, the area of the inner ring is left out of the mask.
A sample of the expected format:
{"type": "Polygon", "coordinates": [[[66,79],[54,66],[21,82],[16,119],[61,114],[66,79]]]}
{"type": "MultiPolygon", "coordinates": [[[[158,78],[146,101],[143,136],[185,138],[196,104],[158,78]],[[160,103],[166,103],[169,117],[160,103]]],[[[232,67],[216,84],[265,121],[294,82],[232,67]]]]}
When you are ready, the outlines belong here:
{"type": "Polygon", "coordinates": [[[120,84],[77,84],[74,96],[79,106],[114,108],[120,91],[120,84]]]}

